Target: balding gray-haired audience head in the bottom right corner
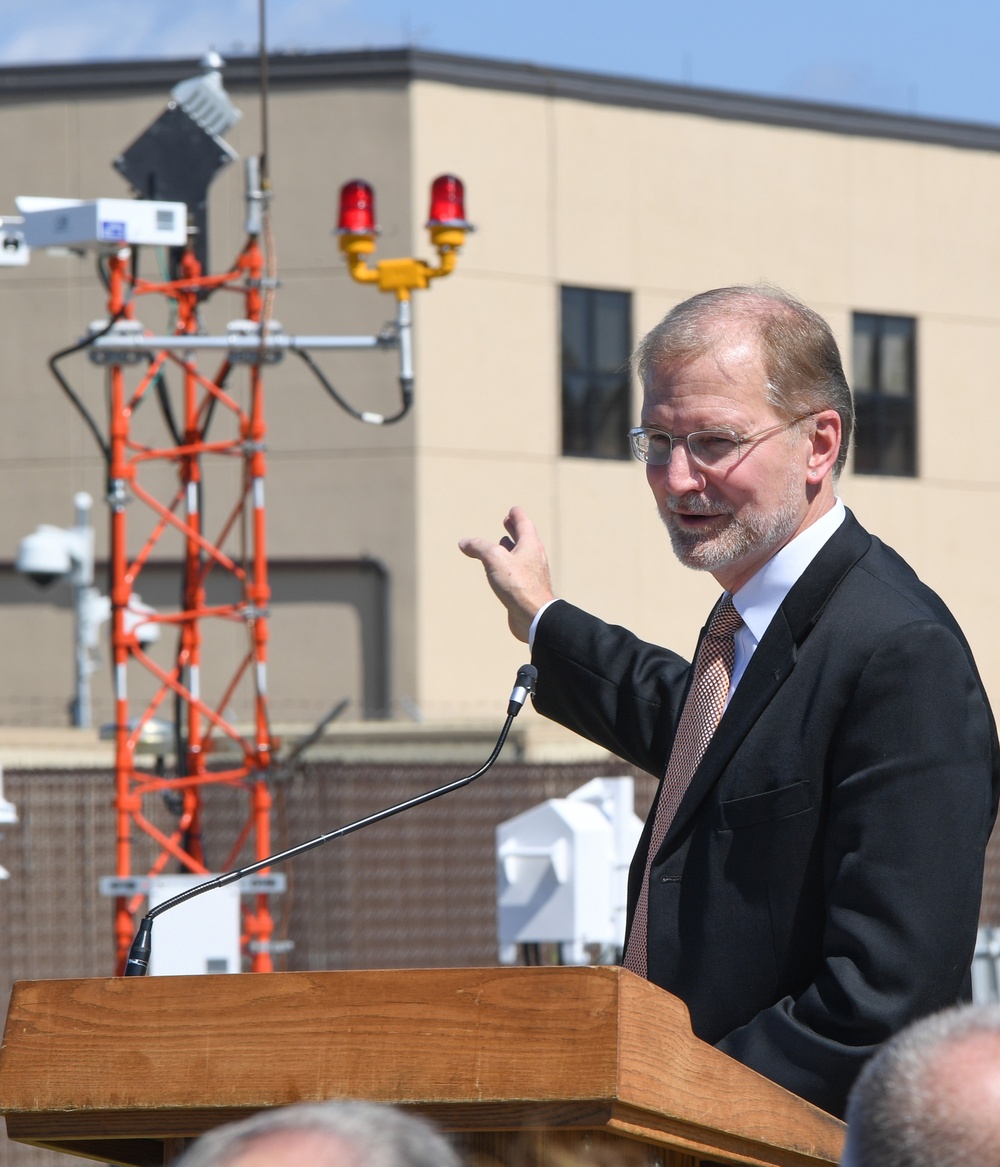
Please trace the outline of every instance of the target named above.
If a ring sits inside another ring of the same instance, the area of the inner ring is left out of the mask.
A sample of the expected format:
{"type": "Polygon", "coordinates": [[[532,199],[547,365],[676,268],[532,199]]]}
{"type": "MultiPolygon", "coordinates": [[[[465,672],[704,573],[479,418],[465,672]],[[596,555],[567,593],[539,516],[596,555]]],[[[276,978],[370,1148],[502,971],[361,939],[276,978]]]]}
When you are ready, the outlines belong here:
{"type": "Polygon", "coordinates": [[[847,1103],[849,1167],[1000,1161],[1000,1005],[963,1005],[882,1046],[847,1103]]]}

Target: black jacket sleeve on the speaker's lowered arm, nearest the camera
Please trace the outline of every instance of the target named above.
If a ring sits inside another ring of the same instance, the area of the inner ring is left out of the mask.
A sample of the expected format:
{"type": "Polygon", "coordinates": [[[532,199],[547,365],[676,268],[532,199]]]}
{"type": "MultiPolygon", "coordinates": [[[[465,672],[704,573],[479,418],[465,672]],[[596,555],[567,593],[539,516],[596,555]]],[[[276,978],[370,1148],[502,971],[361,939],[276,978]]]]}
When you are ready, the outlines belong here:
{"type": "Polygon", "coordinates": [[[720,1049],[840,1113],[879,1042],[967,995],[995,741],[950,629],[918,621],[872,652],[830,745],[821,962],[720,1049]]]}

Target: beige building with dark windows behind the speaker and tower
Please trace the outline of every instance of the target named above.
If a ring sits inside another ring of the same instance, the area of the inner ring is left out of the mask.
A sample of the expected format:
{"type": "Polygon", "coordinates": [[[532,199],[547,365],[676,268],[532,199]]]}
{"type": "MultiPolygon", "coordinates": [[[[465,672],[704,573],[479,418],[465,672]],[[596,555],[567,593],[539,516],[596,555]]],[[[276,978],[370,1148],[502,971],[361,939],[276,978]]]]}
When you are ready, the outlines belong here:
{"type": "MultiPolygon", "coordinates": [[[[7,70],[0,212],[18,195],[126,196],[112,160],[196,71],[7,70]]],[[[244,113],[226,140],[257,153],[256,63],[225,78],[244,113]]],[[[387,296],[350,282],[330,235],[347,180],[376,188],[380,257],[428,257],[427,191],[442,172],[464,180],[478,228],[457,273],[417,296],[417,399],[398,426],[349,418],[291,356],[267,372],[277,720],[314,720],[341,697],[349,718],[498,719],[526,650],[456,541],[498,537],[512,503],[546,539],[560,594],[690,651],[716,587],[673,561],[624,456],[637,401],[616,370],[678,300],[758,279],[831,321],[861,391],[863,446],[841,492],[942,593],[1000,700],[1000,643],[975,619],[992,600],[1000,490],[1000,127],[417,50],[275,57],[268,110],[286,331],[371,333],[392,315],[387,296]]],[[[215,270],[242,243],[242,186],[231,166],[211,188],[215,270]]],[[[103,315],[103,296],[93,256],[0,268],[8,725],[64,724],[71,696],[68,595],[41,598],[13,559],[39,523],[71,522],[75,491],[104,494],[93,440],[46,366],[103,315]]],[[[205,327],[231,315],[212,301],[205,327]]],[[[139,316],[163,327],[159,305],[139,316]]],[[[393,355],[317,359],[358,407],[393,411],[393,355]]],[[[64,369],[100,417],[100,372],[85,357],[64,369]]],[[[207,505],[231,489],[214,480],[207,505]]],[[[138,587],[169,607],[173,567],[138,587]]],[[[211,647],[219,668],[235,652],[211,647]]],[[[106,671],[95,706],[107,720],[106,671]]]]}

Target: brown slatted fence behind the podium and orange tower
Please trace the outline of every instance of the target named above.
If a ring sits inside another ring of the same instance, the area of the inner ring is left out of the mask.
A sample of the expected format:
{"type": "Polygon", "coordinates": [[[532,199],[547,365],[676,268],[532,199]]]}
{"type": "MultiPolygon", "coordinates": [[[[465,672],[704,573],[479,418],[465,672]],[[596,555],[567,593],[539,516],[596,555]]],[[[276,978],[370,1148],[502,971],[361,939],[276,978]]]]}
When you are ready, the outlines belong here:
{"type": "MultiPolygon", "coordinates": [[[[306,766],[274,785],[274,847],[302,843],[463,773],[454,764],[306,766]]],[[[300,855],[284,868],[287,894],[273,900],[278,935],[294,942],[278,967],[496,964],[497,824],[609,774],[635,775],[636,811],[644,815],[655,782],[621,763],[498,763],[463,790],[300,855]]],[[[11,873],[0,882],[6,1013],[15,980],[112,972],[112,901],[98,894],[98,881],[114,871],[114,784],[106,770],[12,770],[5,790],[20,818],[0,843],[0,862],[11,873]]],[[[246,796],[210,787],[204,806],[208,859],[218,865],[238,837],[246,796]]],[[[166,806],[155,819],[169,827],[166,806]]],[[[137,840],[133,871],[146,871],[151,860],[149,845],[137,840]]],[[[0,1140],[0,1167],[70,1162],[79,1160],[0,1140]]]]}

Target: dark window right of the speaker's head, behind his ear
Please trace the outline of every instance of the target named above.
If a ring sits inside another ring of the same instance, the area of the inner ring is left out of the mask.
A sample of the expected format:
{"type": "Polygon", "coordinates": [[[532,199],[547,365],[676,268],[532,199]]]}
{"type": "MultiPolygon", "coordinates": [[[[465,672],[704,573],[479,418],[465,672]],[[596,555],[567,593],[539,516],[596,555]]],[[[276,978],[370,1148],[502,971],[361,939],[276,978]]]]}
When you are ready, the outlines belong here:
{"type": "Polygon", "coordinates": [[[917,473],[916,321],[854,313],[855,474],[917,473]]]}

